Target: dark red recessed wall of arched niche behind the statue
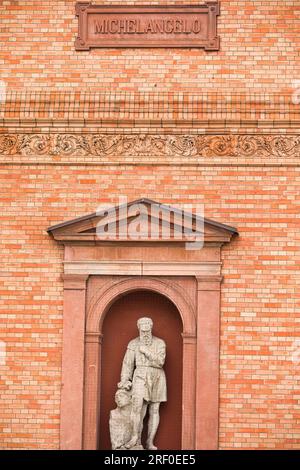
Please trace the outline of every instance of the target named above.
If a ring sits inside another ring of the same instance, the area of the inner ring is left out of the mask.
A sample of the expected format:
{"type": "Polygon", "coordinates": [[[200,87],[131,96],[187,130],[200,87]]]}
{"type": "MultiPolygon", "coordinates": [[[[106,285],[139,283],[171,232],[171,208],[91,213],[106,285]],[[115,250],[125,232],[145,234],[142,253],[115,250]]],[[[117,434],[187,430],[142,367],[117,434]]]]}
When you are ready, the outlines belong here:
{"type": "Polygon", "coordinates": [[[175,305],[153,290],[134,290],[119,296],[105,315],[101,329],[99,449],[111,449],[109,412],[116,406],[114,392],[120,380],[122,360],[127,344],[138,335],[136,323],[141,316],[152,318],[153,335],[165,341],[167,351],[164,370],[168,400],[160,406],[156,445],[159,449],[181,449],[182,321],[175,305]]]}

